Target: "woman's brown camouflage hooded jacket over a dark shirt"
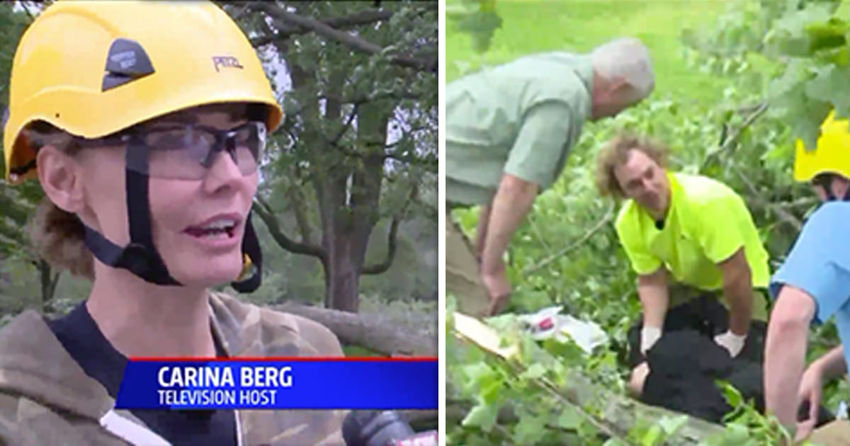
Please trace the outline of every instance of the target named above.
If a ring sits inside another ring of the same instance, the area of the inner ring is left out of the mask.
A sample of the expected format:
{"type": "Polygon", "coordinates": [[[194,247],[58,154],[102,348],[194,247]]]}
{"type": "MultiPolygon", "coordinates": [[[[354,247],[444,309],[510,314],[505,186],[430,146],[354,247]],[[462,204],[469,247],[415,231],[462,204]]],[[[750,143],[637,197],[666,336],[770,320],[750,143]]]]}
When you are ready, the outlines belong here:
{"type": "MultiPolygon", "coordinates": [[[[231,357],[343,356],[337,337],[309,319],[211,293],[215,336],[231,357]]],[[[167,445],[86,375],[41,315],[0,330],[0,445],[167,445]]],[[[238,410],[243,446],[344,445],[343,410],[238,410]]]]}

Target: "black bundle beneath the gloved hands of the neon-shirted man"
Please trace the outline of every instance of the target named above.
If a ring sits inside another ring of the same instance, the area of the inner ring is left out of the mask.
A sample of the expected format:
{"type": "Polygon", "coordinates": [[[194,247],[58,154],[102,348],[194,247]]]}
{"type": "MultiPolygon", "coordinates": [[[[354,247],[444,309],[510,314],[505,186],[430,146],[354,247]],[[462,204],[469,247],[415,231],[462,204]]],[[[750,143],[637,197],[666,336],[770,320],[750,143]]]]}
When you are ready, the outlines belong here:
{"type": "MultiPolygon", "coordinates": [[[[753,323],[742,353],[731,358],[728,351],[714,342],[714,336],[727,330],[728,312],[710,297],[672,308],[666,315],[665,330],[649,349],[645,360],[649,375],[643,384],[643,403],[676,410],[706,421],[721,422],[732,410],[723,398],[717,380],[728,381],[745,400],[753,400],[764,411],[762,358],[765,324],[753,323]]],[[[630,361],[643,362],[639,354],[641,323],[629,332],[630,361]],[[638,352],[638,354],[634,354],[638,352]]],[[[798,414],[808,418],[808,403],[798,414]]],[[[823,406],[818,426],[832,421],[823,406]]]]}

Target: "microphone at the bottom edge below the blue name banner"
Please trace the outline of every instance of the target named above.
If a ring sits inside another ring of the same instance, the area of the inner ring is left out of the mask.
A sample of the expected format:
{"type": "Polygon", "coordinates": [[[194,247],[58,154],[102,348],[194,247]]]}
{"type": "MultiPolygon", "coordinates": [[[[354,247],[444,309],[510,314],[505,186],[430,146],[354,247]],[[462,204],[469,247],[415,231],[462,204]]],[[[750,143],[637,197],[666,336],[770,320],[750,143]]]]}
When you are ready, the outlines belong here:
{"type": "Polygon", "coordinates": [[[437,446],[437,432],[413,432],[392,410],[352,410],[343,421],[346,446],[437,446]]]}

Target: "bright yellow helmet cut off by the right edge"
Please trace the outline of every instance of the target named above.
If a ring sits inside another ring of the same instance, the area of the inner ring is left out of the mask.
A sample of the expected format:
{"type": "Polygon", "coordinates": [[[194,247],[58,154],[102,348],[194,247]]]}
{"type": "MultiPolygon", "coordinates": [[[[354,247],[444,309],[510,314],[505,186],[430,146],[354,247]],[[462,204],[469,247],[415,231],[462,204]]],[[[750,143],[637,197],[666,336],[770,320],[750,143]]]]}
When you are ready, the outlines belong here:
{"type": "Polygon", "coordinates": [[[821,173],[836,173],[850,179],[850,122],[836,120],[835,110],[826,116],[814,150],[796,142],[794,179],[808,182],[821,173]]]}

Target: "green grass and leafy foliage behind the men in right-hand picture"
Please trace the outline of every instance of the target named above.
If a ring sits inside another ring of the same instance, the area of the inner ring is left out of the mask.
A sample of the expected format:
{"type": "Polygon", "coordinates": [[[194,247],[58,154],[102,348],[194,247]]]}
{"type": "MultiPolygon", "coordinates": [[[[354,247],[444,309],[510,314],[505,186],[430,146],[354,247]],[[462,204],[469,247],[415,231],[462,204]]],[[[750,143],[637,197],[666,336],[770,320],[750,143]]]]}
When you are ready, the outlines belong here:
{"type": "MultiPolygon", "coordinates": [[[[717,178],[742,195],[775,271],[817,204],[807,186],[792,180],[794,142],[802,138],[813,146],[830,104],[839,116],[850,112],[848,12],[850,4],[834,1],[449,2],[448,82],[523,54],[586,52],[621,36],[641,38],[655,65],[656,89],[649,100],[615,119],[589,123],[562,177],[536,200],[515,234],[508,252],[514,291],[506,311],[532,313],[557,303],[603,325],[613,336],[608,352],[597,353],[594,364],[581,358],[566,364],[586,370],[613,386],[609,388],[621,386],[626,330],[638,317],[640,304],[635,274],[613,229],[619,204],[598,198],[593,184],[596,154],[618,128],[666,142],[673,152],[673,170],[717,178]]],[[[455,213],[471,236],[477,212],[455,213]]],[[[817,328],[810,336],[809,358],[837,343],[834,325],[817,328]]],[[[602,444],[592,433],[582,436],[581,429],[560,432],[564,425],[557,416],[547,419],[540,412],[520,416],[512,425],[496,425],[487,409],[499,404],[484,398],[480,380],[490,376],[504,387],[507,375],[473,352],[464,349],[449,357],[450,383],[459,389],[450,398],[479,401],[466,414],[464,426],[450,430],[452,444],[570,443],[569,435],[576,432],[579,443],[602,444]],[[472,371],[475,364],[481,364],[477,372],[472,371]],[[493,378],[500,373],[504,379],[493,378]],[[486,422],[479,418],[484,413],[486,422]]],[[[508,392],[502,387],[500,392],[508,392]]],[[[847,392],[846,380],[830,383],[826,406],[836,410],[847,392]]],[[[533,405],[546,401],[538,392],[519,392],[517,398],[533,405]]],[[[556,415],[565,410],[563,404],[555,407],[556,415]]],[[[745,415],[728,427],[729,444],[775,441],[778,430],[768,420],[745,409],[740,414],[745,415]]],[[[654,428],[656,434],[663,431],[654,428]]],[[[649,434],[652,429],[638,430],[634,441],[662,441],[649,434]]]]}

